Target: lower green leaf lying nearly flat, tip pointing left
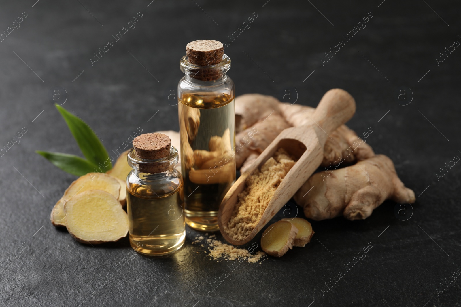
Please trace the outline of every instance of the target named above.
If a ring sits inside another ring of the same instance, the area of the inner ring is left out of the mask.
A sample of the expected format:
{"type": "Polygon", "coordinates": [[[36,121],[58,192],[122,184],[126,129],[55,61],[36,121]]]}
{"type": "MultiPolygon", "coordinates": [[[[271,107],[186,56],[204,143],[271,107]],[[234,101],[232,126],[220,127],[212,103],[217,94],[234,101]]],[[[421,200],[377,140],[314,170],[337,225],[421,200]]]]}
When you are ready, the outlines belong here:
{"type": "Polygon", "coordinates": [[[96,166],[79,156],[63,154],[59,152],[35,151],[39,155],[45,157],[49,162],[53,163],[63,171],[76,175],[83,176],[91,172],[97,172],[96,166]]]}

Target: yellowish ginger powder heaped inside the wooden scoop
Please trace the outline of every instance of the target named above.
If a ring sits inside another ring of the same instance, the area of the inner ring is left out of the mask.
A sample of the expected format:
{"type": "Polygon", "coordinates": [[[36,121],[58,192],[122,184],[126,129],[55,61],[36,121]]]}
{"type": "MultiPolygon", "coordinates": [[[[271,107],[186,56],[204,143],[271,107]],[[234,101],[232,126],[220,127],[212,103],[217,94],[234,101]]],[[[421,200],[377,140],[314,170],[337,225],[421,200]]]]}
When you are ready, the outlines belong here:
{"type": "Polygon", "coordinates": [[[245,190],[238,195],[231,219],[224,226],[230,237],[242,240],[253,231],[280,182],[295,162],[294,157],[279,148],[260,170],[256,170],[253,176],[248,176],[245,190]]]}

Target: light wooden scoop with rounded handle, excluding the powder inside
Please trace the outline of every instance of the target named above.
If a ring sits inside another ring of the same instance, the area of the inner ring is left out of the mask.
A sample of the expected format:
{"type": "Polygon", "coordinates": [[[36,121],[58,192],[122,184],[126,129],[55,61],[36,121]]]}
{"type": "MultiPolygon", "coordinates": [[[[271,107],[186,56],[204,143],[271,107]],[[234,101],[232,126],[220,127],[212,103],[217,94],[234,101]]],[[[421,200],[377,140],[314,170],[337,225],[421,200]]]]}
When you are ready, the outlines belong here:
{"type": "Polygon", "coordinates": [[[218,213],[219,229],[223,237],[231,244],[242,245],[248,243],[260,232],[320,166],[323,160],[323,147],[325,140],[329,138],[329,134],[349,121],[354,113],[354,98],[348,92],[335,88],[323,95],[314,114],[311,116],[311,124],[283,130],[226,193],[218,213]],[[252,176],[256,169],[260,169],[280,147],[298,158],[298,161],[278,186],[260,221],[248,237],[242,240],[229,237],[224,230],[224,225],[227,225],[231,219],[238,201],[237,195],[245,189],[245,181],[248,176],[252,176]]]}

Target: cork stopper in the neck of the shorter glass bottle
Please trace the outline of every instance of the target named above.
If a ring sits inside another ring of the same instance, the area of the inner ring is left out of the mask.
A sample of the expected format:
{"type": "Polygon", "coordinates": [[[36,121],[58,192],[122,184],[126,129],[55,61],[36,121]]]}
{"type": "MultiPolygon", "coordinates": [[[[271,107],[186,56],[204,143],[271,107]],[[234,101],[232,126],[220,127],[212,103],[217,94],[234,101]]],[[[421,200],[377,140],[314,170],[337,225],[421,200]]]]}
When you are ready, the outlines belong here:
{"type": "MultiPolygon", "coordinates": [[[[156,160],[170,155],[171,139],[163,133],[143,133],[133,140],[136,156],[144,160],[156,160]]],[[[156,174],[165,172],[168,163],[140,164],[143,173],[156,174]]]]}

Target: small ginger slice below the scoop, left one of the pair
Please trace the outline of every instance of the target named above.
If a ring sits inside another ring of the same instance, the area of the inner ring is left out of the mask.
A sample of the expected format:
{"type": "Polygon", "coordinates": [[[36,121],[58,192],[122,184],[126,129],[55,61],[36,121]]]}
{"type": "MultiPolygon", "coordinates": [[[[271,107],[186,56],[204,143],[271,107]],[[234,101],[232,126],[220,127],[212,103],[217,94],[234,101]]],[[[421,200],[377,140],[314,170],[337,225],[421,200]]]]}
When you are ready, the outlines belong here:
{"type": "Polygon", "coordinates": [[[298,233],[296,226],[286,220],[279,220],[267,227],[261,237],[261,248],[274,257],[282,257],[293,249],[295,237],[298,233]]]}

